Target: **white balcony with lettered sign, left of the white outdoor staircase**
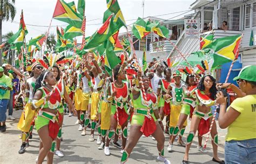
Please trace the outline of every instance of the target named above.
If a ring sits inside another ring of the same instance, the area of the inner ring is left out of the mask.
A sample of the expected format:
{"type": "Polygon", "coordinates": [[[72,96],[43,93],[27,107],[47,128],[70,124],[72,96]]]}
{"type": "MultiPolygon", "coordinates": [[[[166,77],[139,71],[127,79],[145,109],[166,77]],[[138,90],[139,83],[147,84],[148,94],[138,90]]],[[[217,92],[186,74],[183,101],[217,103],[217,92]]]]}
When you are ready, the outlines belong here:
{"type": "MultiPolygon", "coordinates": [[[[174,44],[177,40],[171,40],[174,44]]],[[[150,54],[153,58],[165,59],[167,55],[171,52],[173,46],[169,40],[160,40],[158,42],[150,43],[150,54]]]]}

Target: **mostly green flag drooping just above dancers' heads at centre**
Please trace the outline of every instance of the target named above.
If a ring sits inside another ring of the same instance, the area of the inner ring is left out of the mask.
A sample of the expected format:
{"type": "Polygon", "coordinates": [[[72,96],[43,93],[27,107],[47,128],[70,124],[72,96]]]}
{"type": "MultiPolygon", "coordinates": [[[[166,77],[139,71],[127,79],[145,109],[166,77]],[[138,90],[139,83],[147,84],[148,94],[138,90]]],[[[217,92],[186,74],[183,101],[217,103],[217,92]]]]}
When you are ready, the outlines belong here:
{"type": "Polygon", "coordinates": [[[115,66],[121,63],[121,60],[116,56],[113,51],[113,46],[109,40],[106,40],[106,54],[105,54],[105,69],[111,74],[115,66]]]}

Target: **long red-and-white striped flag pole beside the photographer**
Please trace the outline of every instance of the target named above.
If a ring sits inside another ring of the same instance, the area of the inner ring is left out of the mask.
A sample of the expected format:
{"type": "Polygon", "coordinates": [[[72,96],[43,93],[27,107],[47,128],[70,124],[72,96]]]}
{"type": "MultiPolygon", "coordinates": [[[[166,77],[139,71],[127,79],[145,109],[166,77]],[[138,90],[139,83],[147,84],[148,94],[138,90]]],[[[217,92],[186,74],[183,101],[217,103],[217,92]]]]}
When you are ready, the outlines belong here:
{"type": "MultiPolygon", "coordinates": [[[[227,83],[227,80],[228,78],[230,77],[230,73],[232,71],[232,68],[234,66],[234,63],[235,63],[235,60],[237,60],[237,56],[238,56],[238,53],[239,53],[239,48],[240,48],[240,45],[241,45],[241,40],[242,40],[242,37],[244,36],[244,34],[241,35],[241,39],[240,39],[240,42],[239,42],[239,46],[238,46],[238,49],[237,51],[235,52],[235,57],[230,65],[230,70],[228,70],[228,73],[227,73],[227,77],[226,77],[226,80],[225,80],[225,83],[227,83]]],[[[216,114],[217,114],[217,111],[214,111],[214,114],[213,114],[213,118],[212,118],[212,122],[211,122],[211,126],[210,126],[210,129],[208,131],[208,134],[207,134],[207,137],[206,137],[206,140],[205,140],[205,145],[204,145],[204,148],[206,148],[206,145],[207,145],[207,141],[210,137],[210,133],[212,131],[212,126],[213,126],[213,123],[214,123],[214,120],[215,120],[215,117],[216,117],[216,114]]]]}

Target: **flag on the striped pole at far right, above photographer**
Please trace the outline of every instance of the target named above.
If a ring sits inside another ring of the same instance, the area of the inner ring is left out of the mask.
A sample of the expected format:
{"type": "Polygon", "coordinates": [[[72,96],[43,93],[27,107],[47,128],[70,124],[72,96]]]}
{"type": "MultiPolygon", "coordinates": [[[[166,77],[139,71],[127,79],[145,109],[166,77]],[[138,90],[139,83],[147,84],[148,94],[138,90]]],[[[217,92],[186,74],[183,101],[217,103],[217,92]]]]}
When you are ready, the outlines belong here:
{"type": "Polygon", "coordinates": [[[238,57],[241,35],[215,39],[212,43],[214,69],[218,65],[233,61],[238,57]]]}

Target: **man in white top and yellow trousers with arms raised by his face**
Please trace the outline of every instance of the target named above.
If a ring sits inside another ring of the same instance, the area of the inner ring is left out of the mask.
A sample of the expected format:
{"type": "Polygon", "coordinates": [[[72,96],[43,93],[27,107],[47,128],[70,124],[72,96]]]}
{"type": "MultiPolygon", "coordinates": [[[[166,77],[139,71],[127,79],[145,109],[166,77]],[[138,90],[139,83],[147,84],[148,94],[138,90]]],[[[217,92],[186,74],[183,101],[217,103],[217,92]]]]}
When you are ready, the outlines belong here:
{"type": "MultiPolygon", "coordinates": [[[[100,81],[100,78],[103,76],[103,72],[100,69],[97,61],[94,58],[94,55],[92,53],[87,54],[89,57],[89,61],[85,60],[85,66],[86,68],[91,71],[90,74],[91,78],[91,85],[92,85],[92,94],[91,94],[91,110],[90,110],[90,118],[91,118],[91,136],[89,138],[89,141],[94,141],[94,131],[96,128],[96,122],[99,119],[98,116],[98,103],[99,103],[99,92],[98,92],[98,84],[100,81]],[[90,64],[89,64],[90,63],[90,64]]],[[[100,128],[98,129],[98,132],[100,132],[100,128]]],[[[97,138],[97,144],[100,145],[101,143],[101,135],[99,133],[97,138]]]]}

